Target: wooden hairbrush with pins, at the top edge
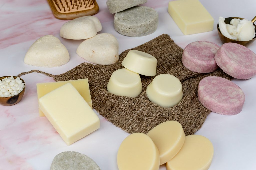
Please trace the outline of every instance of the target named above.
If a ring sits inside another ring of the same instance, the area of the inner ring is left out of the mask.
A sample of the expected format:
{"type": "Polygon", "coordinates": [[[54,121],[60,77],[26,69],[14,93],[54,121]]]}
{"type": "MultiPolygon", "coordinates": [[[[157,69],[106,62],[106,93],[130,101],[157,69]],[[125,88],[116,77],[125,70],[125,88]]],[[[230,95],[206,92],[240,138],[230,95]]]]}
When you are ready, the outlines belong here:
{"type": "Polygon", "coordinates": [[[71,20],[99,11],[96,0],[47,0],[55,18],[71,20]]]}

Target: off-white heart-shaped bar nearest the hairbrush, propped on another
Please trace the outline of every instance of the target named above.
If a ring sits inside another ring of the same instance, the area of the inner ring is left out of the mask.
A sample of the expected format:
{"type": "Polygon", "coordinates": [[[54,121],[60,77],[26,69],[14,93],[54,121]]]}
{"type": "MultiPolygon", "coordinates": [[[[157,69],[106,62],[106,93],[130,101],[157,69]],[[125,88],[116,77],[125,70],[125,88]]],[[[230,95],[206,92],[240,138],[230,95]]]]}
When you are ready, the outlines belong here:
{"type": "Polygon", "coordinates": [[[72,40],[83,40],[95,36],[101,30],[102,25],[97,17],[84,16],[63,24],[60,36],[72,40]]]}

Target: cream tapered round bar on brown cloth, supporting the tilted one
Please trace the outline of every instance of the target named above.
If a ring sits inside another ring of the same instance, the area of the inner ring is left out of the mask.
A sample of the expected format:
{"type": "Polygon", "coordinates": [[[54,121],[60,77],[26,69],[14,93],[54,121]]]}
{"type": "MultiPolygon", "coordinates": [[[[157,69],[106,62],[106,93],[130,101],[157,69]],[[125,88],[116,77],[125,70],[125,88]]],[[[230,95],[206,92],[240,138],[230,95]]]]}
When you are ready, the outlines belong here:
{"type": "Polygon", "coordinates": [[[137,97],[142,92],[141,77],[128,69],[116,70],[110,77],[107,89],[115,95],[137,97]]]}

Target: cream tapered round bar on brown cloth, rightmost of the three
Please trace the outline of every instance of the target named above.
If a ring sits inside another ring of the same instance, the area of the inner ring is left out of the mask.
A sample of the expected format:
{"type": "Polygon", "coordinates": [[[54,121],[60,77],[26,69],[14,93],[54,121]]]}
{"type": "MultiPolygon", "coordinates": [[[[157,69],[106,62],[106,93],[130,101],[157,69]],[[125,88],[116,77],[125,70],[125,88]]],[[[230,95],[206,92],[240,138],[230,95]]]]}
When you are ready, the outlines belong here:
{"type": "Polygon", "coordinates": [[[173,75],[160,74],[147,86],[147,97],[159,106],[173,107],[182,100],[182,84],[173,75]]]}

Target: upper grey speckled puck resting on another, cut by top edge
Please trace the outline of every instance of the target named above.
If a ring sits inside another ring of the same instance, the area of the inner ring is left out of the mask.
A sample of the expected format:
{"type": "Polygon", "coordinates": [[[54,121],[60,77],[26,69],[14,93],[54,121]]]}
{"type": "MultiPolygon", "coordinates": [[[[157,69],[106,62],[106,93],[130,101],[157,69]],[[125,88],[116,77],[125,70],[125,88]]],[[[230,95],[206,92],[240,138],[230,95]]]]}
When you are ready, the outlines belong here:
{"type": "Polygon", "coordinates": [[[108,0],[107,6],[109,8],[109,12],[114,14],[116,12],[123,11],[125,9],[144,4],[147,0],[108,0]]]}

